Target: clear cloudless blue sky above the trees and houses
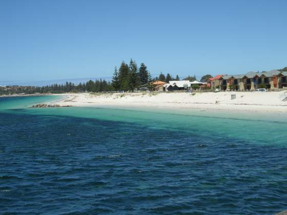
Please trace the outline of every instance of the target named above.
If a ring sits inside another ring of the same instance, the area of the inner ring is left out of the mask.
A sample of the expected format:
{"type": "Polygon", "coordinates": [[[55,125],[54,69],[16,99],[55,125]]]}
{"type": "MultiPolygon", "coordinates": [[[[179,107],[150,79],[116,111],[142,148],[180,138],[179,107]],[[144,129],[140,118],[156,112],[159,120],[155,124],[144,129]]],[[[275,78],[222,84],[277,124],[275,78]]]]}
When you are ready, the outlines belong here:
{"type": "Polygon", "coordinates": [[[287,1],[0,0],[0,82],[287,66],[287,1]]]}

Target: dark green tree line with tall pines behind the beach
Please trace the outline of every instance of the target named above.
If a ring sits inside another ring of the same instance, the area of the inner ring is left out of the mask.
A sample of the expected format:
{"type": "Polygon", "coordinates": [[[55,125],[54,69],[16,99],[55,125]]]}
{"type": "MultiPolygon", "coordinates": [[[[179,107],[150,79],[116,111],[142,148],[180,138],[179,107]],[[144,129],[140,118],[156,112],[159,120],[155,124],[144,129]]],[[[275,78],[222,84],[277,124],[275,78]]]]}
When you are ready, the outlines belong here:
{"type": "MultiPolygon", "coordinates": [[[[287,67],[280,71],[287,71],[287,67]]],[[[212,75],[207,74],[201,77],[200,81],[207,82],[212,75]]],[[[147,69],[144,62],[140,63],[138,68],[135,60],[131,59],[129,64],[125,61],[121,62],[119,69],[115,67],[111,81],[105,79],[89,80],[84,83],[74,84],[72,82],[66,82],[66,84],[51,84],[44,87],[23,87],[14,86],[9,89],[0,87],[0,94],[12,94],[12,93],[67,93],[67,92],[134,92],[136,89],[149,89],[153,88],[152,82],[154,81],[169,82],[172,80],[180,80],[179,76],[172,77],[170,73],[167,75],[162,72],[152,78],[151,73],[147,69]]],[[[188,76],[182,80],[195,81],[196,76],[188,76]]]]}

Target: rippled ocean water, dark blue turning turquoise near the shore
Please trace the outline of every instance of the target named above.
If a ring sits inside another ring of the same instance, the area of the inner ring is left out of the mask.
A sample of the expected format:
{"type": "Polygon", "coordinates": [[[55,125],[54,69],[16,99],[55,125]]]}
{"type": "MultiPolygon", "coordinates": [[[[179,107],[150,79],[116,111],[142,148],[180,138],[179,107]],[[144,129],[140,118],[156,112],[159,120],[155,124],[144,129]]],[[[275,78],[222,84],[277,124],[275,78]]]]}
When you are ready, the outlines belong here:
{"type": "Polygon", "coordinates": [[[287,209],[287,116],[0,98],[1,213],[287,209]]]}

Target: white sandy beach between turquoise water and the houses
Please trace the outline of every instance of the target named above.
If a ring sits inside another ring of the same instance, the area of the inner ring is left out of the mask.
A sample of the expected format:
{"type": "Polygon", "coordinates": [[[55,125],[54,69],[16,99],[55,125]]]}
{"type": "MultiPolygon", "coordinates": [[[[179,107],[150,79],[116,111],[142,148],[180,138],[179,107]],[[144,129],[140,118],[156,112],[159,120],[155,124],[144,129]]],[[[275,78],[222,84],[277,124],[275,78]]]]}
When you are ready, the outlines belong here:
{"type": "Polygon", "coordinates": [[[218,92],[218,93],[114,93],[67,94],[59,105],[83,107],[136,106],[169,109],[233,110],[255,112],[286,112],[287,91],[280,92],[218,92]],[[231,95],[236,95],[231,99],[231,95]]]}

